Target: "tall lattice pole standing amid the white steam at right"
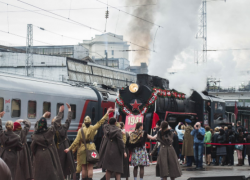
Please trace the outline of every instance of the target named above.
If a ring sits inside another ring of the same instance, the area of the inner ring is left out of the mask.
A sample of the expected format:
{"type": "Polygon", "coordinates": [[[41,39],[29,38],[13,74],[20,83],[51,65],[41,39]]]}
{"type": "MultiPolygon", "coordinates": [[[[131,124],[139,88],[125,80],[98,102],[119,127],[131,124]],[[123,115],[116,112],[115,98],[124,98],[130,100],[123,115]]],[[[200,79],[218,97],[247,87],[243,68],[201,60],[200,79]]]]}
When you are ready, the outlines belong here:
{"type": "MultiPolygon", "coordinates": [[[[202,58],[202,62],[207,62],[207,0],[202,0],[200,12],[199,12],[199,30],[196,34],[196,38],[203,39],[202,56],[197,55],[195,63],[199,63],[202,58]]],[[[198,52],[199,54],[199,52],[198,52]]]]}

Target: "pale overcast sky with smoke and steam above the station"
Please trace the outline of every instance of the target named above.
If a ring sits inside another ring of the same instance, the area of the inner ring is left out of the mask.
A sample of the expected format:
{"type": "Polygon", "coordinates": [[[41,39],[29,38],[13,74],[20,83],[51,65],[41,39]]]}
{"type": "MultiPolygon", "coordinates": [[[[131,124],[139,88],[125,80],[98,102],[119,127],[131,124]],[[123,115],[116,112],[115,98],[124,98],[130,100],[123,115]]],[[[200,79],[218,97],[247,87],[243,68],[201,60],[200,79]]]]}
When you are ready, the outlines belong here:
{"type": "MultiPolygon", "coordinates": [[[[106,32],[124,35],[125,40],[151,50],[141,54],[131,52],[131,65],[147,62],[149,74],[168,78],[171,88],[182,89],[188,94],[190,89],[203,90],[207,77],[220,79],[224,88],[238,87],[250,80],[246,73],[250,70],[250,50],[229,50],[250,48],[249,0],[207,2],[207,45],[208,49],[217,51],[209,51],[207,62],[200,61],[198,65],[194,63],[195,52],[202,50],[202,40],[195,35],[201,0],[0,0],[0,44],[25,45],[25,38],[1,31],[26,37],[27,24],[34,25],[34,45],[69,45],[91,39],[104,33],[106,3],[117,8],[109,7],[106,32]],[[169,75],[169,72],[177,73],[169,75]]],[[[141,49],[134,45],[130,48],[141,49]]]]}

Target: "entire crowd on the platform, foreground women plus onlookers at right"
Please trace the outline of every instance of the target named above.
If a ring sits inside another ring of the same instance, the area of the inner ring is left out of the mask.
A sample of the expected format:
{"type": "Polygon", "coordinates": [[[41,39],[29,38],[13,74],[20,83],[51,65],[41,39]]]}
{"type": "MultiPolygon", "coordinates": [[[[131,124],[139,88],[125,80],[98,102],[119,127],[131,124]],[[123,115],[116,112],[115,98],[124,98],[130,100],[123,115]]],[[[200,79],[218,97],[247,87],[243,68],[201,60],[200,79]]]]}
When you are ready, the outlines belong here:
{"type": "Polygon", "coordinates": [[[59,108],[58,115],[50,125],[47,123],[50,112],[45,112],[36,122],[30,148],[26,139],[31,123],[28,120],[7,121],[4,130],[2,118],[5,112],[0,113],[0,173],[3,177],[7,180],[63,180],[72,174],[71,178],[76,179],[76,174],[82,173],[83,180],[92,180],[93,167],[97,164],[106,171],[102,180],[128,179],[130,154],[134,180],[137,180],[138,173],[140,180],[143,180],[144,168],[150,165],[149,156],[155,154],[156,177],[162,180],[180,177],[181,165],[191,167],[194,163],[196,170],[202,170],[204,154],[208,166],[234,165],[236,150],[237,166],[244,165],[246,155],[250,165],[250,145],[237,144],[250,143],[250,135],[247,136],[240,122],[237,122],[236,128],[232,124],[213,130],[209,126],[202,127],[199,122],[192,125],[189,119],[174,129],[167,121],[159,121],[153,135],[143,131],[143,123],[138,122],[135,130],[129,134],[124,129],[124,123],[109,117],[114,111],[109,108],[95,125],[91,125],[91,118],[86,116],[71,144],[67,132],[72,112],[70,105],[66,105],[68,117],[64,124],[61,122],[64,106],[59,108]],[[103,138],[97,152],[94,137],[100,127],[103,138]],[[147,139],[157,142],[149,153],[145,146],[147,139]]]}

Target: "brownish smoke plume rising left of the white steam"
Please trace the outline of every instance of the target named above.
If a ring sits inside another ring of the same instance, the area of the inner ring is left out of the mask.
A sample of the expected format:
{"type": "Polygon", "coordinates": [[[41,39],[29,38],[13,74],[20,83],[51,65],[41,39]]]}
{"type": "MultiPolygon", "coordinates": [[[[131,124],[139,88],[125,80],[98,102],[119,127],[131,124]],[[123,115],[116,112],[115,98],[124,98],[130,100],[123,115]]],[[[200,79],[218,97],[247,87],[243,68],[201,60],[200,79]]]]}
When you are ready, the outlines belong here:
{"type": "MultiPolygon", "coordinates": [[[[154,4],[155,1],[152,0],[126,0],[126,4],[131,6],[131,4],[136,5],[145,5],[145,4],[154,4]]],[[[130,8],[131,9],[131,8],[130,8]]],[[[138,6],[137,8],[130,10],[130,13],[134,16],[145,19],[149,22],[155,22],[156,17],[156,5],[146,5],[138,6]]],[[[153,41],[153,27],[156,27],[154,24],[145,22],[139,18],[130,17],[130,21],[126,28],[126,37],[133,42],[147,49],[151,49],[150,45],[153,41]]],[[[133,64],[139,65],[141,62],[147,62],[150,57],[150,51],[146,51],[138,46],[130,44],[130,49],[140,49],[141,51],[135,51],[131,55],[133,64]]]]}

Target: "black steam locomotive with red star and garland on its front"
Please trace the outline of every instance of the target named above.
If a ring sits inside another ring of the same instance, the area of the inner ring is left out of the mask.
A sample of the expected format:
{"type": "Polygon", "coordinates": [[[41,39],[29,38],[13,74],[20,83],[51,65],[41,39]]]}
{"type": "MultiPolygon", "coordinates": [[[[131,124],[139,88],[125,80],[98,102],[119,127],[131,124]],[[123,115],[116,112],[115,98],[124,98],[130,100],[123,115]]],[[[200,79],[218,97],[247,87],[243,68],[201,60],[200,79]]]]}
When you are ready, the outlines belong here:
{"type": "Polygon", "coordinates": [[[143,107],[148,107],[146,113],[143,114],[144,129],[148,133],[151,131],[154,112],[159,115],[160,120],[168,121],[173,128],[179,122],[184,123],[186,118],[191,119],[193,124],[199,121],[202,125],[209,125],[212,128],[219,124],[229,123],[225,117],[224,100],[209,96],[206,92],[197,91],[193,91],[192,95],[186,98],[176,90],[169,89],[167,79],[157,76],[138,74],[137,83],[121,89],[119,93],[120,102],[117,101],[117,103],[121,106],[119,112],[123,122],[125,122],[129,111],[133,114],[142,114],[143,107]],[[152,94],[159,89],[165,92],[165,95],[158,93],[154,104],[149,106],[152,94]],[[139,104],[140,108],[133,108],[135,102],[139,104]]]}

